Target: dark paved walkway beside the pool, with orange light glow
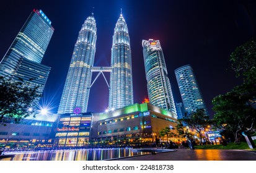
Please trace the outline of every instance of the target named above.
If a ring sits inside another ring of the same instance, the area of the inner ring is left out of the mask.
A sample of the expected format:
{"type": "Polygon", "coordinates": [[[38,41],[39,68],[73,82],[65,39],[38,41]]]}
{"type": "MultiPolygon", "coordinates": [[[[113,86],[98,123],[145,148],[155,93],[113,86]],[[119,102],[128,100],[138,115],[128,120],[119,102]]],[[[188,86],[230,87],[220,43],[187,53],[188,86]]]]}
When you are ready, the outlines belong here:
{"type": "Polygon", "coordinates": [[[245,150],[189,150],[178,149],[165,153],[147,154],[120,161],[256,161],[256,152],[245,150]]]}

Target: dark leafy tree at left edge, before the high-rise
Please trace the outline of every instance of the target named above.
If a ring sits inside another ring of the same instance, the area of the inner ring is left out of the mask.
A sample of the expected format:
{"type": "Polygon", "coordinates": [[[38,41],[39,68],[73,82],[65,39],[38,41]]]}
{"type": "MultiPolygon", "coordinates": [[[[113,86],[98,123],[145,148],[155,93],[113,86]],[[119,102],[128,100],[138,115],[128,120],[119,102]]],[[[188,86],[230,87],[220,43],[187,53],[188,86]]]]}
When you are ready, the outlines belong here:
{"type": "Polygon", "coordinates": [[[21,119],[35,115],[35,101],[41,96],[38,87],[29,86],[29,82],[20,82],[0,77],[0,120],[21,119]]]}

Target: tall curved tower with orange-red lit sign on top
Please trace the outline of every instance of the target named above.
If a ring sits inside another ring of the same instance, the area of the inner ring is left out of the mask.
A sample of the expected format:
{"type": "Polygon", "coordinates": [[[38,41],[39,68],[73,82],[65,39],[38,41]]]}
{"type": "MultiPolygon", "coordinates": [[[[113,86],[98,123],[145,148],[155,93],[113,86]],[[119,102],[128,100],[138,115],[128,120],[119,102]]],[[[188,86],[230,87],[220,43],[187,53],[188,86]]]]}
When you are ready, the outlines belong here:
{"type": "Polygon", "coordinates": [[[167,76],[164,53],[159,40],[142,41],[149,103],[175,112],[174,97],[167,76]]]}

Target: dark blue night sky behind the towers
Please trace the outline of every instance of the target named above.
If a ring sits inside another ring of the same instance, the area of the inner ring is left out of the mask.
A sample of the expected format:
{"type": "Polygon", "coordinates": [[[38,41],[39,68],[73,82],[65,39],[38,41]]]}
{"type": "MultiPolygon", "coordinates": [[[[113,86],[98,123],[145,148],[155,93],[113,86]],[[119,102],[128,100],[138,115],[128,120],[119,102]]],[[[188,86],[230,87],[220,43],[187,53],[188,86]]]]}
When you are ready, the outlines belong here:
{"type": "MultiPolygon", "coordinates": [[[[174,70],[190,64],[211,116],[211,100],[242,83],[229,69],[229,55],[256,35],[256,1],[1,1],[0,56],[6,53],[33,9],[42,9],[55,28],[42,64],[51,67],[42,103],[56,113],[82,23],[92,13],[97,25],[94,66],[110,66],[112,36],[123,9],[131,40],[134,103],[148,97],[142,40],[160,40],[175,102],[181,102],[174,70]]],[[[97,73],[92,77],[94,80],[97,73]]],[[[105,74],[109,80],[109,74],[105,74]]],[[[90,89],[87,111],[108,107],[102,75],[90,89]]]]}

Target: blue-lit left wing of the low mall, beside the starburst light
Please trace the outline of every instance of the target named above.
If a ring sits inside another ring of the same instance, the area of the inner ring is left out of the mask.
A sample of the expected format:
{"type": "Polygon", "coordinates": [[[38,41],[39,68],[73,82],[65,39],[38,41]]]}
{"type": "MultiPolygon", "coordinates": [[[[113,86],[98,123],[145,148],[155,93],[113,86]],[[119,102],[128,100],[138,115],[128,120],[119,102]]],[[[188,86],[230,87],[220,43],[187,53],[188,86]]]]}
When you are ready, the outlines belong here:
{"type": "Polygon", "coordinates": [[[0,125],[0,145],[52,147],[58,124],[58,114],[37,114],[22,119],[19,124],[7,120],[0,125]]]}

